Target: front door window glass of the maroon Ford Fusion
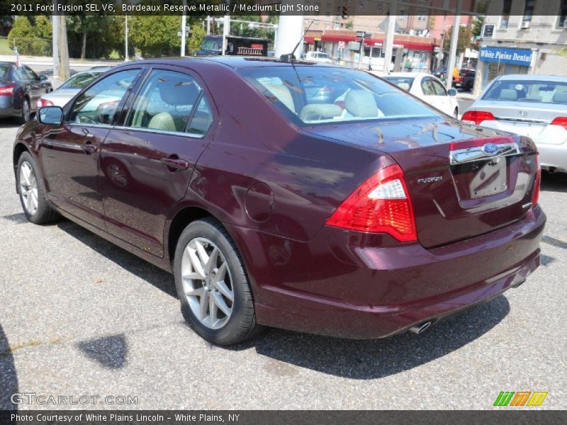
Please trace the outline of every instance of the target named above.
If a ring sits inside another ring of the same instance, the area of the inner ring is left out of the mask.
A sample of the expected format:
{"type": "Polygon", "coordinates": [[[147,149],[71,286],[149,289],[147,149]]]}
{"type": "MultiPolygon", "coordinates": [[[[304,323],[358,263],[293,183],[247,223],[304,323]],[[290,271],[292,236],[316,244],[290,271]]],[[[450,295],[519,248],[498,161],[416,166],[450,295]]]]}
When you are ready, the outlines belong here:
{"type": "Polygon", "coordinates": [[[77,98],[67,121],[77,124],[111,124],[120,101],[139,73],[140,69],[128,69],[93,84],[77,98]]]}

